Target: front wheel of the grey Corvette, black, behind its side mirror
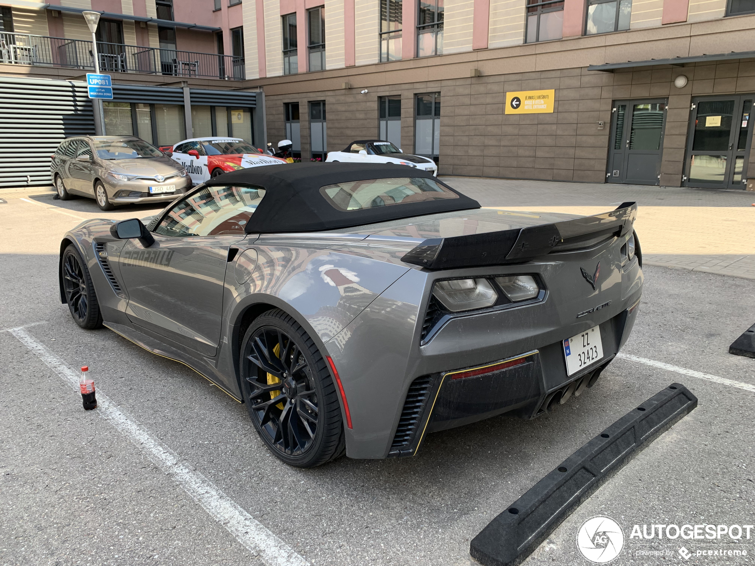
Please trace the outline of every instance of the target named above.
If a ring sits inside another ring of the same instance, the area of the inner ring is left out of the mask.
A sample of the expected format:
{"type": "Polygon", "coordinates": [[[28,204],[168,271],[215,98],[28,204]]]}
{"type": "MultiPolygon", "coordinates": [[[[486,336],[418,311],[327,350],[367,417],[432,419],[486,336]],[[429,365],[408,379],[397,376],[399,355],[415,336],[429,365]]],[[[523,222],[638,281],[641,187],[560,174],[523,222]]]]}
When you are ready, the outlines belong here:
{"type": "Polygon", "coordinates": [[[82,259],[75,245],[70,244],[63,251],[60,262],[60,278],[63,281],[63,293],[71,316],[77,325],[87,330],[102,327],[102,313],[94,283],[87,263],[82,259]]]}

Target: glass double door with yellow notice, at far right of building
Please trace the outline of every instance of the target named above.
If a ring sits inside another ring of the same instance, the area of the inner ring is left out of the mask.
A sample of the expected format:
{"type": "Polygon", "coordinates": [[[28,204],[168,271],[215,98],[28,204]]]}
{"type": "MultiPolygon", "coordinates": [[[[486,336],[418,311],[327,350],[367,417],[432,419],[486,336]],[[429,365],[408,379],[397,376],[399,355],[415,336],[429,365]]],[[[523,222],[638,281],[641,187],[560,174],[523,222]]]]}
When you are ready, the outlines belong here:
{"type": "Polygon", "coordinates": [[[753,95],[692,101],[685,186],[741,189],[752,145],[753,95]]]}

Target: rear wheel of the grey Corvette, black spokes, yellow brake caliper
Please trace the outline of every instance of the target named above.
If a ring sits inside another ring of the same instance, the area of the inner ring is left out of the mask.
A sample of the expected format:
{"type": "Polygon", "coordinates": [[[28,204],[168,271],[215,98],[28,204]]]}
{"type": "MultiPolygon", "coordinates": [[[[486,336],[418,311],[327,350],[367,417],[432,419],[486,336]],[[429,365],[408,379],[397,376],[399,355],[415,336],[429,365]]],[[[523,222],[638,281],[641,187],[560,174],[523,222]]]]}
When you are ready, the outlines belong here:
{"type": "Polygon", "coordinates": [[[254,428],[279,460],[312,468],[344,454],[335,383],[325,358],[294,318],[280,309],[256,318],[242,340],[239,368],[254,428]]]}

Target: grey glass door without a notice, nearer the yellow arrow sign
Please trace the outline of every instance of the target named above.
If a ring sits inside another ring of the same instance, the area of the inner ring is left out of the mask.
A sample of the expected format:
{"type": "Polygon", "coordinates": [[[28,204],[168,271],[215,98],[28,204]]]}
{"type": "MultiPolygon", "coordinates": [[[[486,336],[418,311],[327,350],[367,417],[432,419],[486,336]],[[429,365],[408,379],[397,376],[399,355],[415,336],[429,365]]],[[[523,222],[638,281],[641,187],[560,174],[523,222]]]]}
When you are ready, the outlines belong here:
{"type": "Polygon", "coordinates": [[[660,183],[666,108],[664,99],[614,103],[606,172],[609,183],[660,183]]]}

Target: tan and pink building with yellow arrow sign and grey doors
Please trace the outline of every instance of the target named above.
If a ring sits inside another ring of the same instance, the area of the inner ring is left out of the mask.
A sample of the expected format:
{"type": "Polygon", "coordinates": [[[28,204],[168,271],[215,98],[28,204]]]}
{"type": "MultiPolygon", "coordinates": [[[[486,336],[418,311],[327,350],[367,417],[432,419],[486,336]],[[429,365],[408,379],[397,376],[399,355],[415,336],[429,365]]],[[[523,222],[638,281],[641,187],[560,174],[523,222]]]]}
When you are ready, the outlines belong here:
{"type": "Polygon", "coordinates": [[[267,134],[441,174],[753,189],[755,0],[244,0],[267,134]]]}

